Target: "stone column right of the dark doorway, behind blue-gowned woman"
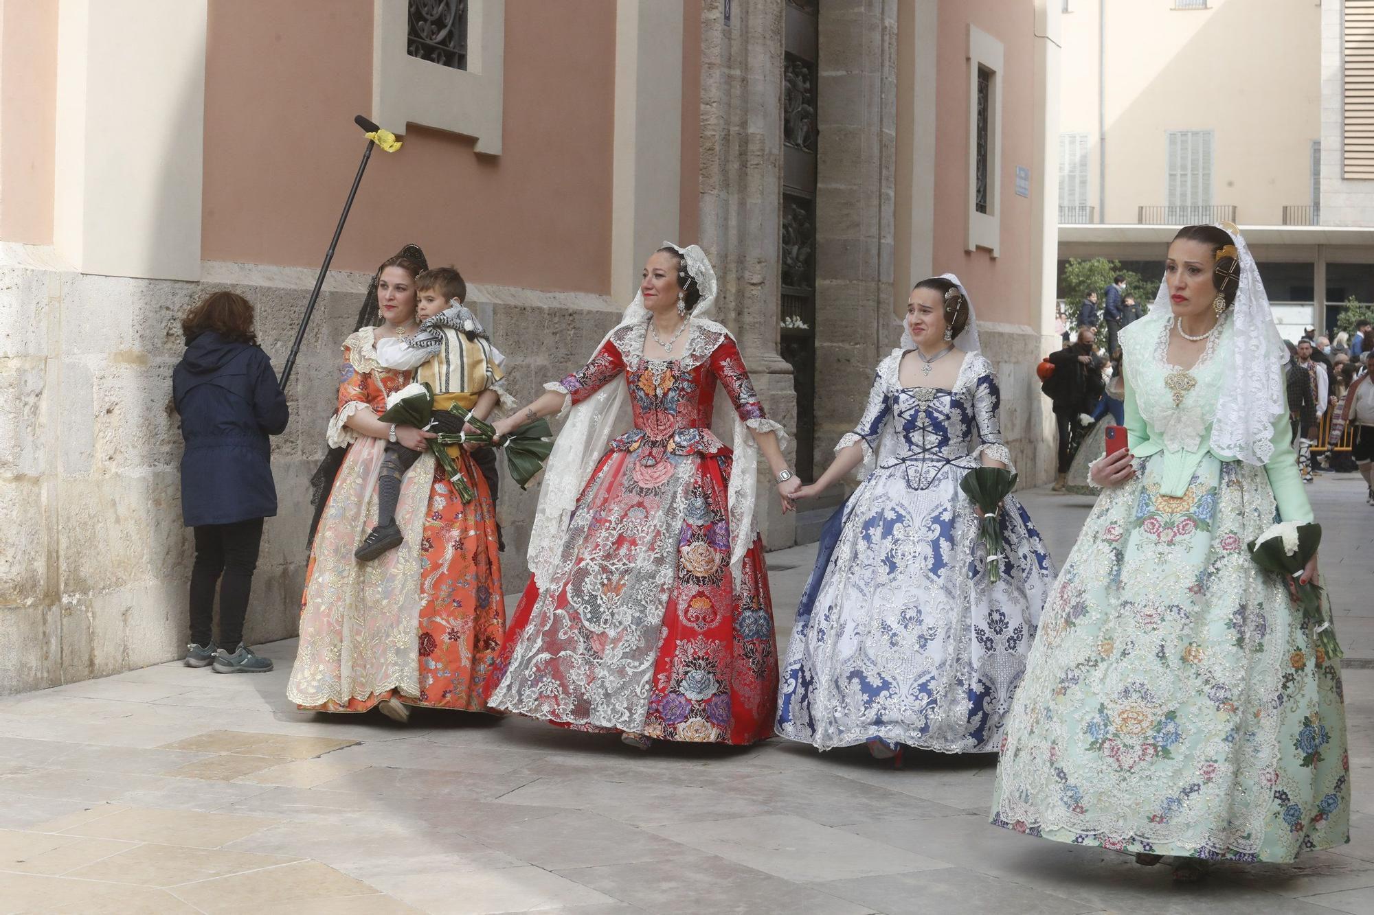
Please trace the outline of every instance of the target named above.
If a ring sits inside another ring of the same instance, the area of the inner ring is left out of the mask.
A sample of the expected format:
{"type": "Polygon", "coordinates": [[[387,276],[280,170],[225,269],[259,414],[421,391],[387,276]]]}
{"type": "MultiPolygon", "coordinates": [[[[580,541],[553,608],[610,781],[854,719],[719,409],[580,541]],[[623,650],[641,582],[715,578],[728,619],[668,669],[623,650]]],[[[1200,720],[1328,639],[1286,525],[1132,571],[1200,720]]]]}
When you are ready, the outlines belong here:
{"type": "Polygon", "coordinates": [[[853,427],[892,312],[897,0],[820,4],[816,181],[816,463],[853,427]]]}

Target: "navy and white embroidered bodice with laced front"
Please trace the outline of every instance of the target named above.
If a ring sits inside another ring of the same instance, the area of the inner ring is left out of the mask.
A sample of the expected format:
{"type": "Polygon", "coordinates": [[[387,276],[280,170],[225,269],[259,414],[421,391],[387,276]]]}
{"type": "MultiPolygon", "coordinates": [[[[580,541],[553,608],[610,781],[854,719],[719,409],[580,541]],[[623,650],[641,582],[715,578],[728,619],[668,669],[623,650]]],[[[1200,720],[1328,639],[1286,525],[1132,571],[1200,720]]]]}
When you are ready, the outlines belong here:
{"type": "Polygon", "coordinates": [[[914,489],[929,488],[949,464],[977,467],[984,451],[1011,467],[992,363],[981,353],[965,353],[952,387],[903,387],[897,376],[901,356],[903,350],[893,350],[878,364],[863,419],[835,449],[861,441],[867,470],[901,467],[914,489]],[[971,448],[974,433],[981,442],[977,448],[971,448]]]}

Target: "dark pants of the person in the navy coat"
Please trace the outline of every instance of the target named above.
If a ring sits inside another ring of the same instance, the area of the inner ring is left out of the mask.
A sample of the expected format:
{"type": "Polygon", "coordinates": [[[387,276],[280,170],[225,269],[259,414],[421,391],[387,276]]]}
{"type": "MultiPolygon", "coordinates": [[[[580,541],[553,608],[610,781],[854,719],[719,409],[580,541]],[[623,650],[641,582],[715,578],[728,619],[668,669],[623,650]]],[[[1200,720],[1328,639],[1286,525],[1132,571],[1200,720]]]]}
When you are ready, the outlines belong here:
{"type": "Polygon", "coordinates": [[[220,644],[229,651],[243,642],[243,617],[253,589],[262,519],[195,528],[195,565],[191,566],[191,642],[210,644],[214,585],[220,585],[220,644]],[[220,577],[223,576],[223,581],[220,577]]]}

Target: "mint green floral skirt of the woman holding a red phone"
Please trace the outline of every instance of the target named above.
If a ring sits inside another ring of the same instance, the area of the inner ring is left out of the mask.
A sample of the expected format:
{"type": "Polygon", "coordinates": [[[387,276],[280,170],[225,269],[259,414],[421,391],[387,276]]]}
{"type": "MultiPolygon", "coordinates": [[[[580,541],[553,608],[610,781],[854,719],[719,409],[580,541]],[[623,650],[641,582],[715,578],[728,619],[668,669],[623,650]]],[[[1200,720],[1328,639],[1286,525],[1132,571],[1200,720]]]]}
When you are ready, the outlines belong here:
{"type": "Polygon", "coordinates": [[[1340,665],[1245,548],[1274,523],[1268,478],[1206,455],[1173,497],[1160,464],[1102,493],[1054,583],[992,822],[1241,861],[1348,842],[1340,665]]]}

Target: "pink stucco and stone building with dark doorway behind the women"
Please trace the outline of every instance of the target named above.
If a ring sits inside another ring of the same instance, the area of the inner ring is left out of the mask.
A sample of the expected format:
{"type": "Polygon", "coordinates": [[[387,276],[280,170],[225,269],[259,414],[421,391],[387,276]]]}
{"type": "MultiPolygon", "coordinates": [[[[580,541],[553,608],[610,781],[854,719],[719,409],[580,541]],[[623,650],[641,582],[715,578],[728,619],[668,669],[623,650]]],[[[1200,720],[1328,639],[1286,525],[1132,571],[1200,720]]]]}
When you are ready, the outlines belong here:
{"type": "MultiPolygon", "coordinates": [[[[240,291],[283,363],[356,114],[404,147],[372,157],[287,390],[249,640],[295,632],[339,343],[408,242],[467,276],[522,397],[581,364],[662,239],[701,243],[804,475],[912,282],[956,271],[1043,481],[1058,3],[0,0],[0,692],[180,653],[179,320],[240,291]]],[[[534,499],[500,504],[517,594],[534,499]]],[[[771,547],[794,525],[768,503],[771,547]]]]}

